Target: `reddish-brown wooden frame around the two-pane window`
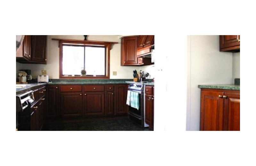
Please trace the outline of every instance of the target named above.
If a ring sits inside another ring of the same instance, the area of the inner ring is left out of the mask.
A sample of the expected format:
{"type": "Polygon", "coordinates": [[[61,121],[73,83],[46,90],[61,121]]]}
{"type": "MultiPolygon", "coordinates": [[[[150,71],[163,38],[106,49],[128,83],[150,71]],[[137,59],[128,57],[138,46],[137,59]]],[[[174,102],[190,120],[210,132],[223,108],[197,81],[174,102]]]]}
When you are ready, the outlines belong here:
{"type": "Polygon", "coordinates": [[[60,79],[109,79],[110,78],[110,49],[111,43],[107,42],[92,42],[92,41],[59,41],[60,47],[60,79]],[[91,47],[105,47],[105,73],[106,76],[64,76],[62,72],[62,60],[63,60],[63,45],[81,45],[91,47]]]}

